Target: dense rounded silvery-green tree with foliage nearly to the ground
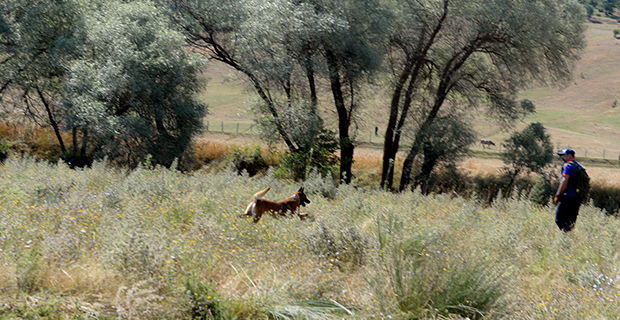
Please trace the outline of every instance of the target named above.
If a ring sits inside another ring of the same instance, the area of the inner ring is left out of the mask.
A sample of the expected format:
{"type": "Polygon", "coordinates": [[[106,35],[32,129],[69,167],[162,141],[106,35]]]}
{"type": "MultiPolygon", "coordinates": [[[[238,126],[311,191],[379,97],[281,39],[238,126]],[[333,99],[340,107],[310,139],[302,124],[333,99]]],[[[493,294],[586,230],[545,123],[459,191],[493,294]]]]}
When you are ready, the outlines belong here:
{"type": "MultiPolygon", "coordinates": [[[[183,160],[202,128],[204,61],[149,1],[92,2],[83,53],[68,65],[63,117],[93,157],[129,166],[183,160]]],[[[85,151],[84,151],[85,152],[85,151]]]]}

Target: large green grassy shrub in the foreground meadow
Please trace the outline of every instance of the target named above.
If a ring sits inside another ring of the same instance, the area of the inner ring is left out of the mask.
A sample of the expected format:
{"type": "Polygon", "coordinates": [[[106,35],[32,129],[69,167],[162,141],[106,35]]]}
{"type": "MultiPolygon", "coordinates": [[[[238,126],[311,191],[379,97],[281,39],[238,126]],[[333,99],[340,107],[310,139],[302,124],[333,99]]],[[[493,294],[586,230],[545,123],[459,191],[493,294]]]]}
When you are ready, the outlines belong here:
{"type": "Polygon", "coordinates": [[[378,224],[385,232],[381,261],[389,270],[387,283],[403,312],[423,317],[434,310],[482,319],[501,305],[506,274],[475,256],[452,254],[442,234],[405,233],[405,224],[393,215],[378,224]]]}

